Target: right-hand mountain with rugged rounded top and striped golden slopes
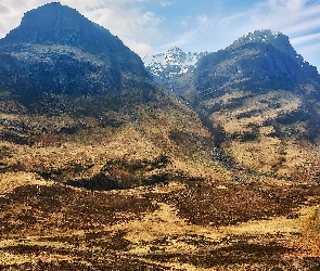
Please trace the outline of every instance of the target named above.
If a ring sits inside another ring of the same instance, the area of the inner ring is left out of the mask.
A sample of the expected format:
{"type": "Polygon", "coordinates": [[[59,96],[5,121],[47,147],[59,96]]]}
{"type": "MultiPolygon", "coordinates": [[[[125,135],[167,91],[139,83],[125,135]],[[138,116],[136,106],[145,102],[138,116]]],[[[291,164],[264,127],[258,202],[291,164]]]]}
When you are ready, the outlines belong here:
{"type": "Polygon", "coordinates": [[[285,35],[247,34],[203,56],[180,82],[233,168],[318,180],[310,153],[320,142],[320,75],[285,35]]]}

